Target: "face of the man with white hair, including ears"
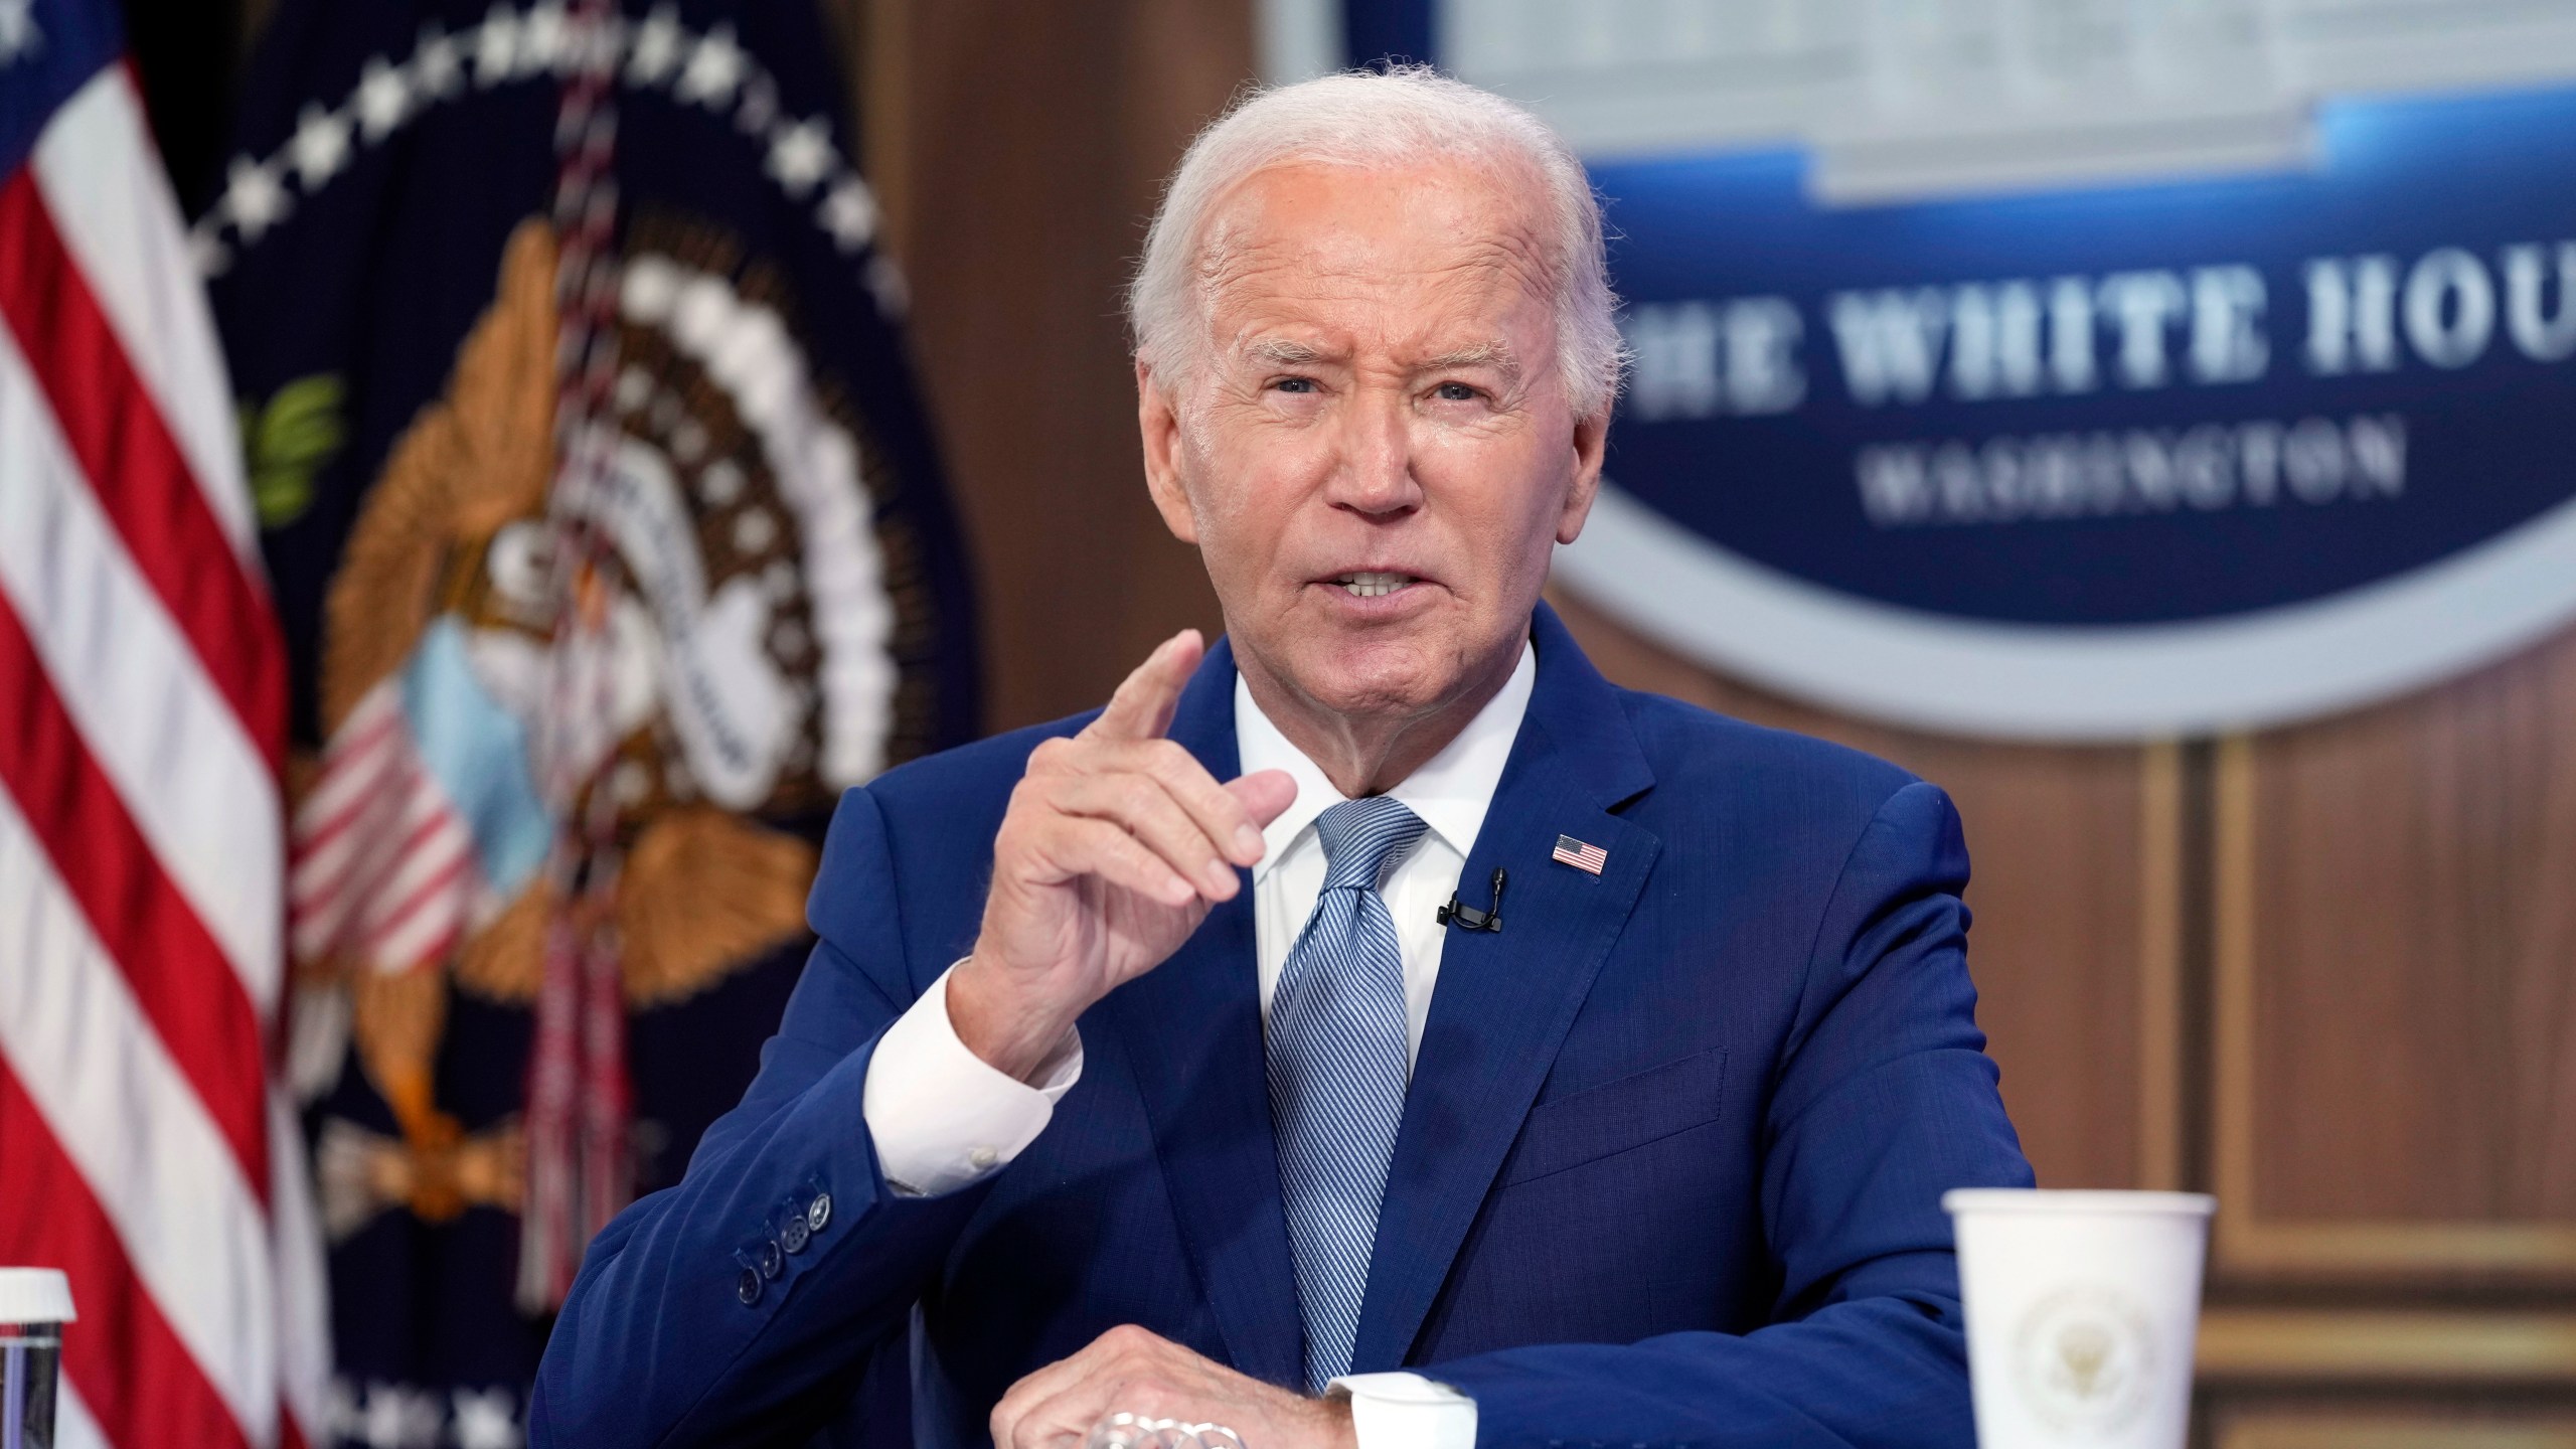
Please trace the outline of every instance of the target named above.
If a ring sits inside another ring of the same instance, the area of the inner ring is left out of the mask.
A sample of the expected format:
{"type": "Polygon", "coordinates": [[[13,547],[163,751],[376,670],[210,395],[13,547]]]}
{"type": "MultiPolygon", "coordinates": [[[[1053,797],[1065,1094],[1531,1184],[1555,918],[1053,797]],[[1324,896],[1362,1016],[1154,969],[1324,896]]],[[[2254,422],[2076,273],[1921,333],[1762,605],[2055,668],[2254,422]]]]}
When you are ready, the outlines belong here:
{"type": "Polygon", "coordinates": [[[1247,670],[1345,717],[1497,683],[1600,482],[1535,178],[1255,173],[1208,214],[1200,371],[1139,369],[1146,474],[1247,670]]]}

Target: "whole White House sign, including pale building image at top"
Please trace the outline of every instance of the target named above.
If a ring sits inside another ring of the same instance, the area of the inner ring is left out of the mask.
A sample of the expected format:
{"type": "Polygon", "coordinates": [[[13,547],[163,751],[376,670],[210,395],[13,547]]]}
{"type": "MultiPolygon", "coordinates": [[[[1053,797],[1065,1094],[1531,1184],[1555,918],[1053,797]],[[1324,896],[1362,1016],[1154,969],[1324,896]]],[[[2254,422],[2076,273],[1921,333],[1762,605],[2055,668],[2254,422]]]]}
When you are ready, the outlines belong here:
{"type": "Polygon", "coordinates": [[[1558,580],[1669,647],[2120,740],[2576,619],[2576,5],[1427,13],[1610,201],[1636,374],[1558,580]]]}

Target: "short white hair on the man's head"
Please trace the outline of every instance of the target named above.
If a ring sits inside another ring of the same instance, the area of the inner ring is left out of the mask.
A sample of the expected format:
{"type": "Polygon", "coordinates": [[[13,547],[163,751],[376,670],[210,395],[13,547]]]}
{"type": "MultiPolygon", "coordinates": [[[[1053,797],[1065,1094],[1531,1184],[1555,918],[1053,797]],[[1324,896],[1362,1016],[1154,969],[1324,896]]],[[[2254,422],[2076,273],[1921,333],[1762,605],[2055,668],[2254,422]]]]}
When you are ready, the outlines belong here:
{"type": "Polygon", "coordinates": [[[1556,356],[1579,418],[1618,397],[1628,351],[1602,242],[1602,209],[1584,162],[1546,121],[1427,64],[1352,70],[1252,90],[1190,142],[1154,211],[1128,284],[1136,358],[1180,376],[1211,343],[1206,291],[1213,266],[1208,209],[1239,180],[1275,165],[1394,168],[1463,160],[1494,173],[1535,173],[1546,191],[1540,266],[1556,294],[1556,356]]]}

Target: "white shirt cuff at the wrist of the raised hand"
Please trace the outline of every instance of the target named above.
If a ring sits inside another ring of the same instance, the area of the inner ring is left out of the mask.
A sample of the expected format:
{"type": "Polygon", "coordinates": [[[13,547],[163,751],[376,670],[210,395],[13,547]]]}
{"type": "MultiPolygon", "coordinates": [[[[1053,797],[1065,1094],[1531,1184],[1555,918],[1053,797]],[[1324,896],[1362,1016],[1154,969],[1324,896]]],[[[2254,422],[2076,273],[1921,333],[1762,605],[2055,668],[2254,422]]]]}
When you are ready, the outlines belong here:
{"type": "MultiPolygon", "coordinates": [[[[953,972],[956,967],[948,967],[953,972]]],[[[1007,1165],[1038,1132],[1056,1101],[1082,1078],[1082,1034],[1038,1067],[1038,1085],[1015,1080],[948,1021],[948,972],[876,1042],[860,1114],[876,1142],[876,1165],[904,1196],[938,1196],[1007,1165]]]]}

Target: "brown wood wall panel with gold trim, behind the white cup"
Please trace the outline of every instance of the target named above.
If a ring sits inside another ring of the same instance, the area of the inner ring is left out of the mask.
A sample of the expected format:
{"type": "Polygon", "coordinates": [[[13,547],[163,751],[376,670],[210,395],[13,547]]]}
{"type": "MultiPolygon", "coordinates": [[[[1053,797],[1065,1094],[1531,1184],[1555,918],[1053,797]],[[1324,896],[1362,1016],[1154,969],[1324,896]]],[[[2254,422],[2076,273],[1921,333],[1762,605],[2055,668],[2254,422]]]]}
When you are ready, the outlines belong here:
{"type": "Polygon", "coordinates": [[[2221,1261],[2576,1274],[2576,634],[2218,753],[2221,1261]]]}

